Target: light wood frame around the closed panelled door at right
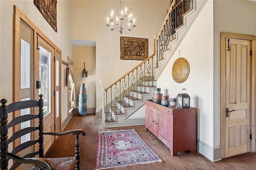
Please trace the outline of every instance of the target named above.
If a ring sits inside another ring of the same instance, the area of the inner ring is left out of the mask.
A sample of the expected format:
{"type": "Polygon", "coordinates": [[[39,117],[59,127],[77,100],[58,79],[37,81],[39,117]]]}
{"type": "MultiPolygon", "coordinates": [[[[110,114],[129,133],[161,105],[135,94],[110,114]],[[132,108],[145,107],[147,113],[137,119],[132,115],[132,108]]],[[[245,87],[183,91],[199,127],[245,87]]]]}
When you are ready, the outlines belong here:
{"type": "Polygon", "coordinates": [[[255,152],[255,95],[256,95],[256,36],[244,34],[235,34],[220,32],[220,147],[221,158],[225,158],[226,148],[226,38],[235,38],[241,40],[250,40],[252,42],[252,63],[251,63],[251,132],[252,140],[250,141],[250,152],[255,152]]]}

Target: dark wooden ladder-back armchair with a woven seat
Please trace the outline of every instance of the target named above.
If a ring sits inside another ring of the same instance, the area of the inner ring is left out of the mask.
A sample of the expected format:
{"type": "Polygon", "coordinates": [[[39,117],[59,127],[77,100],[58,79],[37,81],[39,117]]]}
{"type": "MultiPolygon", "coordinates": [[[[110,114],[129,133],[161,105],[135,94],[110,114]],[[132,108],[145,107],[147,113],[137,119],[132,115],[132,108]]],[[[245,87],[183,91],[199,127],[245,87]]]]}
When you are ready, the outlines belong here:
{"type": "Polygon", "coordinates": [[[66,132],[53,133],[53,132],[44,132],[43,131],[43,95],[39,95],[39,101],[36,100],[27,100],[27,101],[18,101],[6,105],[7,100],[2,99],[0,102],[2,103],[0,108],[0,169],[7,170],[8,161],[10,159],[14,160],[14,164],[10,168],[10,170],[14,170],[20,164],[34,164],[34,166],[30,170],[70,170],[74,169],[76,166],[76,170],[80,170],[80,148],[79,148],[79,140],[78,136],[82,134],[83,136],[86,132],[83,129],[77,130],[69,130],[66,132]],[[39,107],[38,114],[31,115],[22,115],[16,117],[8,123],[8,113],[12,113],[14,111],[18,111],[26,108],[39,107]],[[25,121],[32,121],[34,119],[38,119],[38,127],[27,127],[15,132],[12,136],[8,138],[8,128],[14,127],[14,125],[20,125],[20,123],[25,121]],[[14,140],[20,138],[24,134],[30,134],[31,132],[38,131],[39,137],[36,140],[29,140],[24,142],[17,147],[15,147],[12,152],[8,152],[8,145],[12,144],[14,140]],[[75,142],[75,157],[66,157],[66,158],[44,158],[44,134],[48,135],[56,135],[61,136],[65,134],[73,134],[76,136],[75,142]],[[26,154],[23,157],[18,156],[17,154],[34,144],[38,144],[38,151],[32,152],[30,154],[26,154]],[[34,156],[39,155],[39,158],[33,158],[34,156]]]}

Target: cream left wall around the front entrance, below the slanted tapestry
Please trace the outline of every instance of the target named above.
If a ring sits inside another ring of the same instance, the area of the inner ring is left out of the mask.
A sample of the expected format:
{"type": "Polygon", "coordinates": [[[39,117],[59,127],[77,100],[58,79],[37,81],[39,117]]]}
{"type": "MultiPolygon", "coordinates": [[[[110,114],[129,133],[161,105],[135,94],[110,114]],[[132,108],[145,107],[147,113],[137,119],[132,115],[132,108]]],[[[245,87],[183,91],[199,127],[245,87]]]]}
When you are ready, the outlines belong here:
{"type": "MultiPolygon", "coordinates": [[[[57,2],[57,28],[56,33],[44,19],[33,0],[1,0],[0,1],[0,97],[12,102],[12,71],[13,71],[13,9],[16,5],[24,14],[62,50],[62,60],[72,57],[72,44],[69,40],[69,1],[58,0],[57,2]],[[4,73],[4,74],[3,74],[4,73]]],[[[63,67],[64,65],[62,65],[63,67]]],[[[62,73],[64,72],[62,68],[62,73]]],[[[65,74],[64,74],[65,75],[65,74]]],[[[64,86],[62,75],[62,121],[67,117],[67,88],[64,86]]]]}

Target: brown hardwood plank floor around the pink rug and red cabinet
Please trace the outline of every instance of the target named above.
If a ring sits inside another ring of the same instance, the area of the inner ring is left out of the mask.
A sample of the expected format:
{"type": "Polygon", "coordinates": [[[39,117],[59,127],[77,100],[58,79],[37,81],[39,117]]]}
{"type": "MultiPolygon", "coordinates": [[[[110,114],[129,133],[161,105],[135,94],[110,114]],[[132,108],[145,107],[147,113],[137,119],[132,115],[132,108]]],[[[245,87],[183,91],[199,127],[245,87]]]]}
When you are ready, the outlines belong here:
{"type": "MultiPolygon", "coordinates": [[[[172,156],[169,148],[165,146],[144,125],[102,128],[102,119],[95,118],[94,114],[85,117],[74,115],[64,131],[82,128],[86,130],[86,136],[80,136],[81,170],[94,170],[98,144],[98,132],[107,130],[135,129],[141,138],[162,158],[162,162],[151,164],[138,164],[108,170],[191,170],[191,169],[218,169],[218,170],[256,170],[256,153],[246,153],[212,162],[199,152],[179,152],[178,156],[172,156]]],[[[74,136],[59,136],[52,144],[45,158],[74,156],[74,136]]]]}

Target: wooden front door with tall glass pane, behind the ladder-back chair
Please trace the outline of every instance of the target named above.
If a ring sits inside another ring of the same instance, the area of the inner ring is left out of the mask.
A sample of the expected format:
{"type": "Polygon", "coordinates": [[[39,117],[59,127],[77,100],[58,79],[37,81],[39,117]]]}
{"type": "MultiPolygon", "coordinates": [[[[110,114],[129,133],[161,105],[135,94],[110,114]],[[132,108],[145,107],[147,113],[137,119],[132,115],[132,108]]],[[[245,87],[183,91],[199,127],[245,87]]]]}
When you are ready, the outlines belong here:
{"type": "MultiPolygon", "coordinates": [[[[38,95],[44,99],[44,132],[54,132],[54,48],[38,36],[36,79],[40,81],[38,95]]],[[[44,135],[44,152],[50,148],[54,136],[44,135]]]]}

